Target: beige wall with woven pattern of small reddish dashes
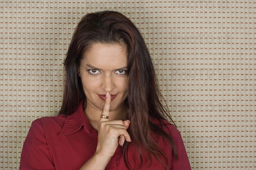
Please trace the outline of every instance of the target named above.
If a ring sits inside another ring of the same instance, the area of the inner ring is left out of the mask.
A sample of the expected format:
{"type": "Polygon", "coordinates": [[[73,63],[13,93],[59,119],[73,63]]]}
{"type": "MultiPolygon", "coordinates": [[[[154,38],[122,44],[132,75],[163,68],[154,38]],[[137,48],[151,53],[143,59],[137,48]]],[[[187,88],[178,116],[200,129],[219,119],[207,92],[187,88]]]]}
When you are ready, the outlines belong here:
{"type": "Polygon", "coordinates": [[[0,0],[0,169],[33,120],[56,115],[79,19],[115,10],[140,29],[192,169],[256,169],[256,1],[0,0]]]}

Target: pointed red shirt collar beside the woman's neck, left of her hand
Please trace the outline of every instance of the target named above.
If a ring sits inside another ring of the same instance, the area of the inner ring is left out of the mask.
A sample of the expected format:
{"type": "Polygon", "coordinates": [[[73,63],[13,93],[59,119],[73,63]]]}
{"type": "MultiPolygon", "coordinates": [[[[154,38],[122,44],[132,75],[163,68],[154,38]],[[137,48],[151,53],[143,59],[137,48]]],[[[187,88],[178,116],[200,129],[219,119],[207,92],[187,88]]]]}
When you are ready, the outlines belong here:
{"type": "Polygon", "coordinates": [[[91,135],[97,134],[96,130],[92,127],[92,125],[90,125],[90,122],[84,114],[83,101],[79,103],[79,107],[73,114],[67,116],[59,135],[69,135],[71,133],[75,133],[76,131],[80,130],[82,126],[84,126],[84,130],[91,135]]]}

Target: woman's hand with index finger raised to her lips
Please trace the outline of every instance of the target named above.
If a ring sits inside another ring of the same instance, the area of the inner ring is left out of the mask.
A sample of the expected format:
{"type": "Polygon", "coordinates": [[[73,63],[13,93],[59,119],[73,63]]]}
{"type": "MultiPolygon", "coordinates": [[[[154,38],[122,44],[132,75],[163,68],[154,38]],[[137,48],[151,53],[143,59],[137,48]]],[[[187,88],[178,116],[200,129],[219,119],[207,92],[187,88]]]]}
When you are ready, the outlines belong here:
{"type": "MultiPolygon", "coordinates": [[[[109,116],[111,95],[107,93],[102,114],[109,116]],[[108,95],[108,96],[107,96],[108,95]]],[[[131,137],[127,132],[130,125],[129,120],[112,120],[100,118],[98,122],[98,144],[96,153],[112,157],[119,145],[123,145],[125,140],[131,142],[131,137]]]]}

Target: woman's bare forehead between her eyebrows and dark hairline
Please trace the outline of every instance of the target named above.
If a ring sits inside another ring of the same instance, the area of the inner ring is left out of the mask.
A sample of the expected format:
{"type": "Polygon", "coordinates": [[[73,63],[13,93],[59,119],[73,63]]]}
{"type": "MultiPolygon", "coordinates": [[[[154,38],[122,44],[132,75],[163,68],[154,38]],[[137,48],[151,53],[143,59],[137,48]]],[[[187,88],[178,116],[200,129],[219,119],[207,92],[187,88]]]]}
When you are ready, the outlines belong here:
{"type": "Polygon", "coordinates": [[[127,66],[125,45],[96,43],[84,53],[81,64],[90,64],[97,68],[110,69],[127,66]]]}

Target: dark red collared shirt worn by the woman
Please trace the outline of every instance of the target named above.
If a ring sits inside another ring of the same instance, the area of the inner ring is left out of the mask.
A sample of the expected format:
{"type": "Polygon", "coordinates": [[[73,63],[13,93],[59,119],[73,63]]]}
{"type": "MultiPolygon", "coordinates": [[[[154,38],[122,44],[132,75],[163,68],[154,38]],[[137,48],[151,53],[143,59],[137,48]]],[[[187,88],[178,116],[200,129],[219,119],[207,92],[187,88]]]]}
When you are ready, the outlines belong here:
{"type": "MultiPolygon", "coordinates": [[[[169,123],[167,121],[165,122],[169,123]]],[[[152,133],[152,136],[157,144],[165,151],[169,160],[169,169],[191,169],[180,132],[174,125],[167,125],[167,127],[164,128],[166,133],[171,135],[175,141],[179,157],[178,161],[172,156],[172,149],[168,142],[157,134],[152,133]]],[[[32,122],[29,133],[23,144],[20,158],[20,170],[79,169],[95,153],[97,141],[97,131],[87,120],[81,102],[77,111],[69,116],[61,114],[52,117],[42,117],[32,122]]],[[[107,144],[109,140],[102,142],[107,144]]],[[[130,144],[134,146],[133,142],[129,143],[129,145],[130,144]]],[[[133,148],[134,147],[128,147],[127,160],[131,166],[134,167],[133,169],[135,169],[136,166],[140,165],[140,156],[137,154],[137,149],[133,148]]],[[[146,162],[143,163],[140,169],[143,169],[145,165],[146,162]]],[[[119,145],[117,147],[106,169],[127,169],[122,156],[122,146],[119,145]]],[[[163,166],[152,156],[152,164],[147,169],[161,170],[163,166]]]]}

